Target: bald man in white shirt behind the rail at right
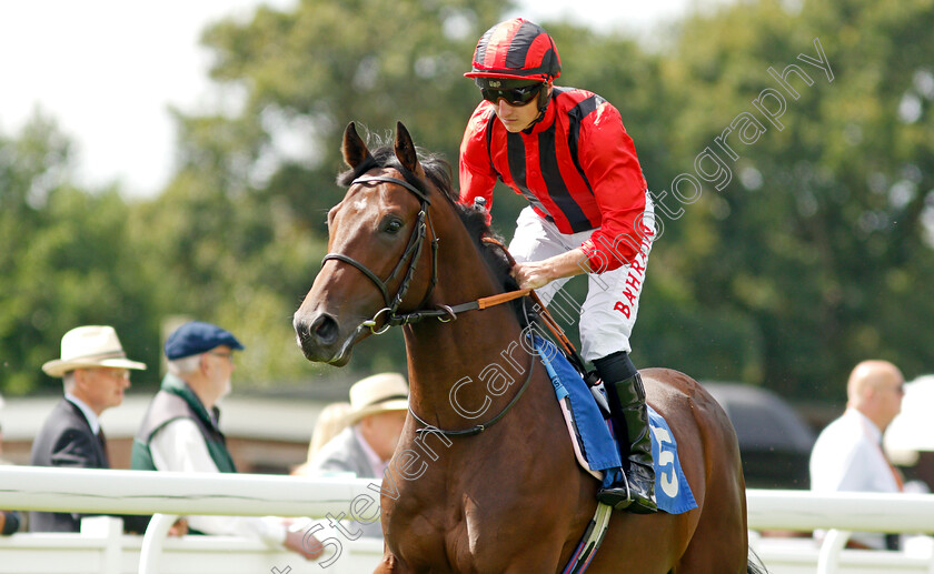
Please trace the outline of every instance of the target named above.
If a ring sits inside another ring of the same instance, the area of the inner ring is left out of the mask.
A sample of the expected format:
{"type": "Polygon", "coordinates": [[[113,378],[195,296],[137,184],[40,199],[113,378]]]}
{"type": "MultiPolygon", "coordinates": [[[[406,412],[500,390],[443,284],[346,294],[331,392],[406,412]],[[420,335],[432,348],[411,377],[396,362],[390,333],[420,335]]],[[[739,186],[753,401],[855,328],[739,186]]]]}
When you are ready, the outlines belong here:
{"type": "MultiPolygon", "coordinates": [[[[811,452],[814,492],[902,492],[902,477],[882,450],[882,435],[902,409],[905,380],[887,361],[863,361],[846,384],[846,411],[811,452]]],[[[819,531],[816,536],[823,536],[819,531]]],[[[856,533],[849,547],[897,548],[897,536],[856,533]]]]}

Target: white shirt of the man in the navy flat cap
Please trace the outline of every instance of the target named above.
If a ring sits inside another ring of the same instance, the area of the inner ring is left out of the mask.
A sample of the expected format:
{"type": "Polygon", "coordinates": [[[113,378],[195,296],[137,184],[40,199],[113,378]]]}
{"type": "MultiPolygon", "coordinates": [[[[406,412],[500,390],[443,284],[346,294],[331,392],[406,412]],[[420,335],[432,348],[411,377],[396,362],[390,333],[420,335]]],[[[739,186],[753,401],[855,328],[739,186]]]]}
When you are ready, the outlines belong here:
{"type": "MultiPolygon", "coordinates": [[[[198,425],[190,419],[176,419],[160,429],[149,450],[160,471],[220,472],[198,425]]],[[[205,534],[260,538],[269,545],[286,541],[286,526],[274,516],[188,516],[188,524],[205,534]]]]}

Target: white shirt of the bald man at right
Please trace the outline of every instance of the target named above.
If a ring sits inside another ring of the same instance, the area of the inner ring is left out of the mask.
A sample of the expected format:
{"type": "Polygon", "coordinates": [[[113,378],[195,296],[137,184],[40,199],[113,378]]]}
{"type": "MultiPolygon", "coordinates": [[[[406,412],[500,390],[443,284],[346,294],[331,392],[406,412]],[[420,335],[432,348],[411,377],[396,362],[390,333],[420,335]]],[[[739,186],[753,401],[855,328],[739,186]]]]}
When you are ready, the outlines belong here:
{"type": "MultiPolygon", "coordinates": [[[[811,451],[811,490],[814,492],[900,492],[882,452],[882,431],[856,409],[821,432],[811,451]]],[[[853,540],[884,548],[882,534],[854,534],[853,540]]]]}

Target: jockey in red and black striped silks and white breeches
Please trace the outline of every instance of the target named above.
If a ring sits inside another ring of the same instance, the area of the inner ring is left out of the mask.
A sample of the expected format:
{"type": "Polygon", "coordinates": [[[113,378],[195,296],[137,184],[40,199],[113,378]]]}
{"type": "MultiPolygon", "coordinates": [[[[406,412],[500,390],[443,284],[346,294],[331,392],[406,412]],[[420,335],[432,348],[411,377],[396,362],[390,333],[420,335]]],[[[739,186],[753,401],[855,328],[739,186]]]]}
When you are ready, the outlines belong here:
{"type": "Polygon", "coordinates": [[[459,201],[491,205],[497,180],[525,195],[530,205],[509,244],[513,275],[546,304],[570,276],[588,274],[582,354],[605,383],[624,471],[610,472],[598,499],[647,514],[656,511],[652,442],[628,353],[655,236],[653,204],[619,112],[593,92],[554,85],[560,72],[555,42],[535,23],[508,20],[480,38],[464,74],[483,101],[460,144],[459,201]]]}

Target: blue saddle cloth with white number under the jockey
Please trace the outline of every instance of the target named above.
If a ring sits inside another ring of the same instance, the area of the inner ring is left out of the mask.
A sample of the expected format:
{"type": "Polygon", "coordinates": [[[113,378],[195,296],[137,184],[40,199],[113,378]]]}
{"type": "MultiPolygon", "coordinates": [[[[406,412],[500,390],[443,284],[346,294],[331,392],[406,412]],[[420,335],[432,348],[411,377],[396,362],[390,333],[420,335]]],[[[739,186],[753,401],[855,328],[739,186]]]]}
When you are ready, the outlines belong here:
{"type": "MultiPolygon", "coordinates": [[[[616,440],[597,406],[590,389],[565,355],[550,342],[535,336],[535,348],[555,386],[557,400],[568,397],[574,422],[580,434],[584,455],[590,469],[612,472],[620,467],[616,440]]],[[[655,497],[658,508],[680,514],[697,507],[678,460],[678,445],[668,423],[650,405],[652,460],[655,464],[655,497]]]]}

